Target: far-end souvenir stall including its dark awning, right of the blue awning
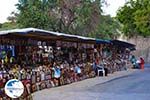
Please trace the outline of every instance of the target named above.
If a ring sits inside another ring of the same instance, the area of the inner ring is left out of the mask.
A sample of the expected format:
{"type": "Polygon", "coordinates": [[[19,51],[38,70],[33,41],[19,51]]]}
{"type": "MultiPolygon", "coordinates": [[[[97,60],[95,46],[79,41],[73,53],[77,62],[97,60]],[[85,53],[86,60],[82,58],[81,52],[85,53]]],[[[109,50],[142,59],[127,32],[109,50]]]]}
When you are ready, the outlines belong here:
{"type": "Polygon", "coordinates": [[[119,41],[111,40],[111,44],[103,46],[103,66],[108,69],[108,73],[126,70],[129,62],[129,52],[135,45],[119,41]]]}

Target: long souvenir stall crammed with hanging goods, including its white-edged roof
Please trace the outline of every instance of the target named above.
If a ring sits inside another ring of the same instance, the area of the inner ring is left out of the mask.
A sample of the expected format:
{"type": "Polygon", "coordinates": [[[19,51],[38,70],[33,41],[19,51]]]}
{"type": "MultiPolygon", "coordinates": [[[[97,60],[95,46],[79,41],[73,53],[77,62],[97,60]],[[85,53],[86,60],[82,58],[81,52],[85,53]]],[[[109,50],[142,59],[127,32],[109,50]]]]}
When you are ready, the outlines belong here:
{"type": "Polygon", "coordinates": [[[35,28],[0,31],[0,99],[10,99],[4,85],[13,78],[24,84],[21,99],[30,100],[35,91],[95,77],[95,61],[110,72],[116,68],[110,63],[117,58],[115,53],[122,54],[114,45],[35,28]]]}

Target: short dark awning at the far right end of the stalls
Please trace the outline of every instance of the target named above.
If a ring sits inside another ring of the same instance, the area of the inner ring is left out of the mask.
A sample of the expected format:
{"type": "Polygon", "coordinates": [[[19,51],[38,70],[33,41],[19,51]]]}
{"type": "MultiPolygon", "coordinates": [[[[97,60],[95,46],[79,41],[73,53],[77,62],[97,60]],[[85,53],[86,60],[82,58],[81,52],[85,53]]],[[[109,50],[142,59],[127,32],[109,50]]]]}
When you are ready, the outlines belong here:
{"type": "Polygon", "coordinates": [[[120,40],[111,40],[113,45],[119,46],[119,47],[124,47],[124,48],[128,48],[131,51],[132,50],[136,50],[135,49],[135,45],[128,43],[128,42],[124,42],[124,41],[120,41],[120,40]]]}

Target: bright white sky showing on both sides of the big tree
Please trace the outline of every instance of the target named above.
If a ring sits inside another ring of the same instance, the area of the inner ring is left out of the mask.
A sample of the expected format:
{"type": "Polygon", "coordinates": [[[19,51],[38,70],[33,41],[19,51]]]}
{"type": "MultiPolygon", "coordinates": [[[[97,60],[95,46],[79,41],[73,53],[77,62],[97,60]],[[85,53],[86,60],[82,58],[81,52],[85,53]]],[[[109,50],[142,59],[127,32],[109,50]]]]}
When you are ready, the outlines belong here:
{"type": "MultiPolygon", "coordinates": [[[[123,6],[126,0],[107,0],[108,6],[104,6],[103,10],[105,14],[111,16],[116,15],[116,11],[119,7],[123,6]]],[[[7,17],[12,11],[17,11],[15,4],[18,0],[0,0],[0,23],[7,21],[7,17]]]]}

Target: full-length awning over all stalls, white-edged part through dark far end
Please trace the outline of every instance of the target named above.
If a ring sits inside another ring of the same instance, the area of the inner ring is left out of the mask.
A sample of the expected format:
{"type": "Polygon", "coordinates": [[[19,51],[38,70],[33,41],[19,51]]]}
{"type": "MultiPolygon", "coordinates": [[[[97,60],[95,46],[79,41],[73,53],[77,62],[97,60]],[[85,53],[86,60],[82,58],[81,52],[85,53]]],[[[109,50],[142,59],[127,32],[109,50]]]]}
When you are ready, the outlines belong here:
{"type": "Polygon", "coordinates": [[[135,45],[119,40],[102,40],[102,39],[95,39],[90,37],[83,37],[79,35],[71,35],[53,31],[47,31],[37,28],[24,28],[24,29],[13,29],[13,30],[6,30],[0,31],[0,36],[20,36],[26,38],[37,38],[43,40],[63,40],[69,42],[81,42],[81,43],[92,43],[92,44],[113,44],[120,47],[129,48],[131,50],[135,50],[135,45]]]}

